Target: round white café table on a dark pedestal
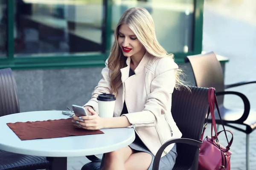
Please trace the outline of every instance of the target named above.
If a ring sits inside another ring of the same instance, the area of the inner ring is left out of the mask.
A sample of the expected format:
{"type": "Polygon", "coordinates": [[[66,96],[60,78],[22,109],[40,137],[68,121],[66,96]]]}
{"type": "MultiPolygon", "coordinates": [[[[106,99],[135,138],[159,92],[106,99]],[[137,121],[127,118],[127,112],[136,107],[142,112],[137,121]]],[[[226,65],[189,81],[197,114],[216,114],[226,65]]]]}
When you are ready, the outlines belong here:
{"type": "Polygon", "coordinates": [[[67,169],[67,157],[89,156],[111,152],[131,144],[135,139],[133,128],[101,129],[104,134],[69,136],[52,139],[21,141],[6,125],[9,122],[67,119],[61,111],[33,111],[0,117],[0,149],[12,153],[53,157],[53,166],[67,169]],[[61,164],[59,164],[61,163],[61,164]]]}

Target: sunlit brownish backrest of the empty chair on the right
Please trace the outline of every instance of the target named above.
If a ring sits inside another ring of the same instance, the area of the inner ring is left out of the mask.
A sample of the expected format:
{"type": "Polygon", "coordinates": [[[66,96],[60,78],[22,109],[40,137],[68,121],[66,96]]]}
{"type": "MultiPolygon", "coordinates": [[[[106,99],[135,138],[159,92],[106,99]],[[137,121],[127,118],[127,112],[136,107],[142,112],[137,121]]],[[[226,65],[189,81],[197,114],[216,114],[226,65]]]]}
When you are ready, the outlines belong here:
{"type": "MultiPolygon", "coordinates": [[[[198,87],[215,88],[216,92],[224,91],[224,75],[221,63],[214,52],[188,56],[198,87]]],[[[224,95],[217,97],[218,105],[223,105],[224,95]]]]}

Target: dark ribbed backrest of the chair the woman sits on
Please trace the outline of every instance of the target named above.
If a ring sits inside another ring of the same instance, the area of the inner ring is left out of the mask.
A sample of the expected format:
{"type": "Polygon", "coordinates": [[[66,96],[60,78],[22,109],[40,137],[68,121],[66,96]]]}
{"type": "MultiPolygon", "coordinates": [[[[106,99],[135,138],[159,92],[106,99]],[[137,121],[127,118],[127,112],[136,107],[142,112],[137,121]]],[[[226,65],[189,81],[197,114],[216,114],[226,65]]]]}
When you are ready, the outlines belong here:
{"type": "MultiPolygon", "coordinates": [[[[205,116],[207,114],[208,88],[189,87],[175,90],[172,94],[172,116],[179,127],[182,138],[201,138],[205,116]]],[[[189,168],[192,163],[198,164],[199,148],[187,144],[177,143],[177,159],[175,167],[180,164],[189,168]]]]}

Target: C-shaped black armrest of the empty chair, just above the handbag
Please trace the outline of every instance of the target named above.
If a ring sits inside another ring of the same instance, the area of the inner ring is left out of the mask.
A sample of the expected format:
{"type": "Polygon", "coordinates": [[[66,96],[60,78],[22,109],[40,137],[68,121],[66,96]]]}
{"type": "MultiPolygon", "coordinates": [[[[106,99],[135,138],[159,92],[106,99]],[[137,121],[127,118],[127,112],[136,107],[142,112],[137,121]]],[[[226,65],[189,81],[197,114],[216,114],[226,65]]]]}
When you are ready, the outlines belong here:
{"type": "Polygon", "coordinates": [[[236,123],[244,122],[247,119],[247,117],[248,117],[248,115],[250,113],[250,102],[247,99],[247,97],[244,94],[242,94],[240,92],[237,92],[237,91],[221,91],[221,92],[216,92],[216,96],[225,95],[225,94],[235,94],[235,95],[241,97],[241,99],[244,102],[244,113],[243,113],[243,115],[239,119],[237,119],[236,121],[233,121],[233,122],[234,123],[235,122],[236,123]]]}

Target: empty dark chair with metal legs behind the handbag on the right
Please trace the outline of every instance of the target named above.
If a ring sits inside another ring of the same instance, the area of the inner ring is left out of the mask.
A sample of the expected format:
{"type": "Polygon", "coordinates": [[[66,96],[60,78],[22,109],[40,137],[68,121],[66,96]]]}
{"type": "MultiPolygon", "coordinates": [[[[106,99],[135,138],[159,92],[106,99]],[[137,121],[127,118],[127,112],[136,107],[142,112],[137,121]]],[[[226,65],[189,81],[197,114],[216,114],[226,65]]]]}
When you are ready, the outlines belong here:
{"type": "MultiPolygon", "coordinates": [[[[224,91],[224,89],[256,83],[256,81],[244,81],[232,85],[224,85],[224,76],[221,64],[214,52],[188,56],[185,58],[185,62],[190,62],[192,66],[196,86],[205,88],[214,87],[216,89],[216,96],[224,125],[246,133],[246,167],[248,170],[249,135],[256,128],[256,111],[250,110],[250,102],[244,94],[236,91],[224,91]],[[244,102],[244,110],[225,108],[223,105],[225,94],[234,94],[241,97],[244,102]],[[237,125],[244,125],[246,128],[244,130],[244,126],[239,127],[237,125]]],[[[221,124],[218,114],[215,115],[215,118],[216,123],[221,124]]]]}

